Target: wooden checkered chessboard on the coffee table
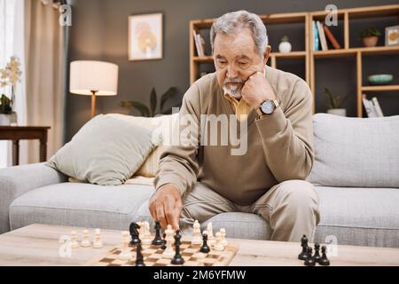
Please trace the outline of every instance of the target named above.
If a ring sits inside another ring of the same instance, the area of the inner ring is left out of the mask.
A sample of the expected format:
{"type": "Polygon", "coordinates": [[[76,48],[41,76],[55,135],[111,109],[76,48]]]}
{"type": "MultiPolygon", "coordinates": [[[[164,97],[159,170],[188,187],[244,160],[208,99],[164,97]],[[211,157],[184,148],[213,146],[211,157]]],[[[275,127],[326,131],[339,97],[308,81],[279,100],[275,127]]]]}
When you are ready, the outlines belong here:
{"type": "MultiPolygon", "coordinates": [[[[136,246],[129,244],[132,257],[129,260],[119,259],[121,246],[112,248],[105,256],[90,260],[88,266],[135,266],[136,246]]],[[[200,252],[200,245],[192,245],[189,238],[182,238],[180,253],[184,258],[183,266],[226,266],[231,263],[232,258],[237,254],[239,246],[228,244],[222,251],[212,249],[208,253],[200,252]]],[[[171,264],[171,258],[164,258],[160,246],[143,245],[142,254],[146,266],[181,266],[171,264]]]]}

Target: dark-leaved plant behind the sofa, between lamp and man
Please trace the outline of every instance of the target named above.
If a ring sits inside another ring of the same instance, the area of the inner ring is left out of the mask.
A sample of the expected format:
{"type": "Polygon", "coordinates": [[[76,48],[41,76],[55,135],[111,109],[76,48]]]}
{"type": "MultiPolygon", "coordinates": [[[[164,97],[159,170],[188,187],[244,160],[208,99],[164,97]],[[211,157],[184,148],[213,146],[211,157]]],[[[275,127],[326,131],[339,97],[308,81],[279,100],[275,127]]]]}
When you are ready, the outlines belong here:
{"type": "MultiPolygon", "coordinates": [[[[164,109],[165,103],[168,101],[168,99],[172,98],[176,94],[176,87],[170,87],[168,91],[166,91],[161,97],[160,97],[160,114],[171,114],[172,113],[172,108],[169,109],[164,109]]],[[[145,104],[135,101],[135,100],[123,100],[120,103],[120,106],[122,107],[128,107],[129,108],[129,113],[131,113],[132,109],[135,108],[137,109],[142,116],[146,117],[153,117],[155,114],[157,114],[156,109],[157,109],[157,93],[155,91],[155,88],[151,91],[150,95],[150,107],[145,106],[145,104]]],[[[180,106],[180,104],[178,105],[180,106]]]]}

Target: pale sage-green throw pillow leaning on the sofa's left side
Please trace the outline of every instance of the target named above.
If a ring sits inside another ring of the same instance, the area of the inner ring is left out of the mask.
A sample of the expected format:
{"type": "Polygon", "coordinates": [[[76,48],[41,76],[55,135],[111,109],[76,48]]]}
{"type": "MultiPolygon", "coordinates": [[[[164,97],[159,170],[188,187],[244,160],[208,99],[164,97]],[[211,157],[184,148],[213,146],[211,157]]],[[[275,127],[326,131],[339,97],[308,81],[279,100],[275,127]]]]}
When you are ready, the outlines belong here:
{"type": "Polygon", "coordinates": [[[156,131],[98,114],[47,165],[91,184],[121,185],[159,144],[156,131]]]}

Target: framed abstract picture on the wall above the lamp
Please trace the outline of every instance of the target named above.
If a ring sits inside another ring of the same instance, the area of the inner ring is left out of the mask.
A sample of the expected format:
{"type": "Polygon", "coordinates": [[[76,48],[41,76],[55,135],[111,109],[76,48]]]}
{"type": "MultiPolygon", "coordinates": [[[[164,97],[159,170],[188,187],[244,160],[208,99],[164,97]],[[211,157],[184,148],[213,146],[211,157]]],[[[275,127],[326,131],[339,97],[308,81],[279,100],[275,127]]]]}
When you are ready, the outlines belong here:
{"type": "Polygon", "coordinates": [[[162,13],[129,16],[129,60],[162,59],[162,13]]]}

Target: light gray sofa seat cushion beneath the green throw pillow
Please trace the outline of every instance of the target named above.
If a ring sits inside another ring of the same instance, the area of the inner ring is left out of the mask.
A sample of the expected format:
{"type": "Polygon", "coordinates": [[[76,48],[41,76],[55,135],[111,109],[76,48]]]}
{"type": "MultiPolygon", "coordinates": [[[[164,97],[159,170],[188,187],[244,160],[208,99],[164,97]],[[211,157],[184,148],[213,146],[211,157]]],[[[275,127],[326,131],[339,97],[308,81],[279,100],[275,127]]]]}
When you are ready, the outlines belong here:
{"type": "Polygon", "coordinates": [[[47,185],[12,202],[10,225],[12,230],[34,223],[126,230],[152,193],[150,185],[47,185]]]}

